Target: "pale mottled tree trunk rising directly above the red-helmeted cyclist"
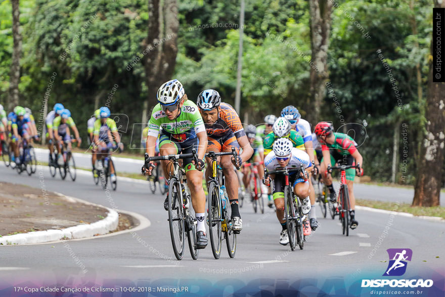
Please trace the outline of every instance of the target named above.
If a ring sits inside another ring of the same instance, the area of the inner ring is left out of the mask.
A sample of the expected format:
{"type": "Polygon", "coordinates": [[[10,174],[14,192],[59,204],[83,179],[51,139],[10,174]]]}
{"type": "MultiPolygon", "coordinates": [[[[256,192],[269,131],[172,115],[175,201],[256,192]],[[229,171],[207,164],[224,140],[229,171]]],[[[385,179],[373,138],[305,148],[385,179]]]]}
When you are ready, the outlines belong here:
{"type": "Polygon", "coordinates": [[[332,2],[329,0],[310,0],[310,108],[307,120],[314,122],[320,118],[320,110],[325,96],[325,82],[328,74],[328,47],[331,31],[332,2]]]}

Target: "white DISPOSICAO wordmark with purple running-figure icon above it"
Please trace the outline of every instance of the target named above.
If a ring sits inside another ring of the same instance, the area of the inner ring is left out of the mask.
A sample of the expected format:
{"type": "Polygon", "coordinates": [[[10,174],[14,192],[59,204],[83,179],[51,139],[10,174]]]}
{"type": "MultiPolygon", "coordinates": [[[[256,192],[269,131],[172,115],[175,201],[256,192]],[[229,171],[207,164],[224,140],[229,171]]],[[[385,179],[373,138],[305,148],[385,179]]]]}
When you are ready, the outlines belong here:
{"type": "MultiPolygon", "coordinates": [[[[408,263],[413,257],[410,248],[388,248],[389,264],[383,276],[402,276],[407,271],[408,263]]],[[[363,279],[362,287],[431,287],[431,279],[363,279]]]]}

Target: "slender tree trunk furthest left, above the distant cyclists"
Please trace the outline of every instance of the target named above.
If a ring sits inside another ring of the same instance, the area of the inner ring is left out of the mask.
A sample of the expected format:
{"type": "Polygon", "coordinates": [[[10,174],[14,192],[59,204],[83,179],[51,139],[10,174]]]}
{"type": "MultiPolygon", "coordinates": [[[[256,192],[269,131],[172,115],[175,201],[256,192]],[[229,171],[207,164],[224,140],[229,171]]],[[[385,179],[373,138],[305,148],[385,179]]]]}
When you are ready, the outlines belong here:
{"type": "Polygon", "coordinates": [[[22,36],[20,35],[19,0],[11,0],[12,4],[12,35],[14,48],[12,52],[11,75],[9,79],[9,102],[11,110],[19,105],[20,54],[22,52],[22,36]]]}

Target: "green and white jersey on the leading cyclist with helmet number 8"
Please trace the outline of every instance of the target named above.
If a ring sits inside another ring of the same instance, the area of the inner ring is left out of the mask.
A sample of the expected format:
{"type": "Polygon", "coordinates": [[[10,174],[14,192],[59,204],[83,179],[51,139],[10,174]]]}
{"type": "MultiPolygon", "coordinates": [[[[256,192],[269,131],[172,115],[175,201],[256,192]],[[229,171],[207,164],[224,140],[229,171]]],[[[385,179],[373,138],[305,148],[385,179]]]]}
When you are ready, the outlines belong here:
{"type": "Polygon", "coordinates": [[[162,128],[163,134],[171,136],[177,142],[194,139],[196,134],[205,132],[198,107],[191,100],[184,102],[181,113],[173,120],[168,119],[160,103],[156,104],[148,126],[148,136],[158,137],[159,128],[162,128]]]}

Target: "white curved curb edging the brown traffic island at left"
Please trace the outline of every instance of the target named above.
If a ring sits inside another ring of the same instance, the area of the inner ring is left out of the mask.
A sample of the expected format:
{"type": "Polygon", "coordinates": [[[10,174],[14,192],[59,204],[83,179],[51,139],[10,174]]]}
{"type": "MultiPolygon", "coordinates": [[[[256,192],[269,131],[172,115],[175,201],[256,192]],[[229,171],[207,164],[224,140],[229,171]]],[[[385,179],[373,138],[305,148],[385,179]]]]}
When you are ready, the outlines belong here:
{"type": "Polygon", "coordinates": [[[0,237],[0,245],[12,245],[12,244],[33,244],[43,243],[48,241],[56,241],[61,239],[77,239],[83,237],[93,237],[97,234],[108,234],[117,228],[119,223],[119,214],[116,210],[105,207],[103,205],[84,201],[82,199],[65,196],[57,193],[59,196],[69,201],[81,202],[88,205],[94,205],[102,207],[108,210],[108,215],[105,219],[97,221],[92,224],[81,224],[73,227],[68,227],[61,230],[49,229],[44,231],[34,231],[28,233],[19,233],[14,235],[7,235],[0,237]]]}

